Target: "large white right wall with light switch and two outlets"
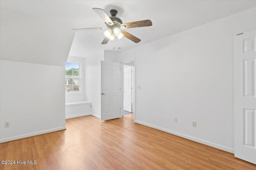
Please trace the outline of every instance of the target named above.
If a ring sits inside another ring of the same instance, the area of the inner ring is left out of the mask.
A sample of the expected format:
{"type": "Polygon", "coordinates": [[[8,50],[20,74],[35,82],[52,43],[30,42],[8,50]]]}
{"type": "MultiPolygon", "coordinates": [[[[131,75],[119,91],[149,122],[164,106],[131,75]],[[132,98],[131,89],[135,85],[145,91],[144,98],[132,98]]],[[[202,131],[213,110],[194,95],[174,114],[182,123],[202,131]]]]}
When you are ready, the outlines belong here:
{"type": "Polygon", "coordinates": [[[120,62],[136,58],[136,122],[234,152],[234,35],[256,29],[255,16],[252,8],[120,53],[120,62]]]}

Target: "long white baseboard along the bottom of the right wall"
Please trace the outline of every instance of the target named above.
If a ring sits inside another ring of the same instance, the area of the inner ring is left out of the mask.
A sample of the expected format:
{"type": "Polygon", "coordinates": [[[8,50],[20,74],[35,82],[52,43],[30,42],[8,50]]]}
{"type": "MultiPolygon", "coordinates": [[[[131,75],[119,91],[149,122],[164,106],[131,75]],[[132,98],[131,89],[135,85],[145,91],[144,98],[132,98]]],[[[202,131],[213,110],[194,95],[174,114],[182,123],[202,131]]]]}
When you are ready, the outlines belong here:
{"type": "Polygon", "coordinates": [[[148,126],[148,127],[152,127],[154,129],[158,129],[160,131],[164,131],[164,132],[167,132],[167,133],[170,133],[170,134],[173,134],[173,135],[177,135],[179,137],[183,137],[183,138],[189,139],[191,141],[202,143],[204,145],[208,145],[208,146],[220,149],[220,150],[225,150],[227,152],[234,153],[234,149],[229,148],[229,147],[225,147],[225,146],[222,146],[222,145],[218,145],[218,144],[212,143],[210,141],[205,141],[205,140],[202,140],[202,139],[198,139],[198,138],[195,138],[195,137],[192,137],[192,136],[189,136],[189,135],[185,135],[185,134],[182,134],[182,133],[171,131],[171,130],[168,130],[168,129],[165,129],[165,128],[162,128],[162,127],[158,127],[158,126],[155,126],[155,125],[150,125],[148,123],[144,123],[144,122],[141,122],[141,121],[135,121],[135,123],[145,125],[145,126],[148,126]]]}

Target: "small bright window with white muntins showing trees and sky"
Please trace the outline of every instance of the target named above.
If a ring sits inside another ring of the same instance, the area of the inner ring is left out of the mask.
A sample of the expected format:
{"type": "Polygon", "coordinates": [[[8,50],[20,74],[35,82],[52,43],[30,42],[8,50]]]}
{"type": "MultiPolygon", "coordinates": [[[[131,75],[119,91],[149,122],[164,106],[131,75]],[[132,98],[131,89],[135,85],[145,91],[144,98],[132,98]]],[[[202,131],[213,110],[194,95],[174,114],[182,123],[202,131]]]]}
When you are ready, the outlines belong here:
{"type": "Polygon", "coordinates": [[[65,79],[66,93],[79,92],[80,64],[67,62],[65,73],[66,73],[66,79],[65,79]]]}

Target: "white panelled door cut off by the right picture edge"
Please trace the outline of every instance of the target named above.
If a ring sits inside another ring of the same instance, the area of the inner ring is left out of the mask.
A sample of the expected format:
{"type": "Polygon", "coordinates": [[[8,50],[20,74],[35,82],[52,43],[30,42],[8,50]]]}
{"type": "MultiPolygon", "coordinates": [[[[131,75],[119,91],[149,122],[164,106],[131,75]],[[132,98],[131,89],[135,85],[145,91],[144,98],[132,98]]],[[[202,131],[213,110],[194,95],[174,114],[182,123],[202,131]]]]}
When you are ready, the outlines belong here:
{"type": "Polygon", "coordinates": [[[234,41],[235,157],[256,164],[256,30],[234,41]]]}

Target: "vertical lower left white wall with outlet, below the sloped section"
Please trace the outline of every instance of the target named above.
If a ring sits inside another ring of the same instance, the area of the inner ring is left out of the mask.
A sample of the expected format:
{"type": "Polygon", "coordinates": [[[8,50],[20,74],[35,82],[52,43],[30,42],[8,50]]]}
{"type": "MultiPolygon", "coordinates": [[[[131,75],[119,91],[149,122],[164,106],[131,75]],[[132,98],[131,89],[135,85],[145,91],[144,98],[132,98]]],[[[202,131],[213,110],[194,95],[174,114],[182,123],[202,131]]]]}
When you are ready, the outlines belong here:
{"type": "Polygon", "coordinates": [[[0,142],[66,129],[64,66],[4,60],[0,66],[0,142]]]}

